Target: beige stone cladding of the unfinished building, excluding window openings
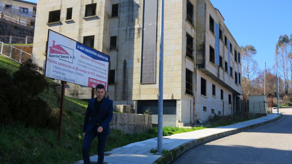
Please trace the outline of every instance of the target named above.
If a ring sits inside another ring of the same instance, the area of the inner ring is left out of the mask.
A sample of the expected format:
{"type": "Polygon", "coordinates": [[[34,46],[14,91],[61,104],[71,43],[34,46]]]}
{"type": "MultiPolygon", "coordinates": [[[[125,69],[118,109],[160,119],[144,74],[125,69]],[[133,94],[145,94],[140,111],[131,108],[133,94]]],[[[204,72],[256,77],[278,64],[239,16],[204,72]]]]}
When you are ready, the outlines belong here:
{"type": "MultiPolygon", "coordinates": [[[[81,43],[83,43],[84,36],[94,36],[93,47],[110,56],[110,70],[115,72],[114,83],[109,84],[106,96],[114,100],[115,104],[130,104],[136,113],[141,113],[147,109],[148,105],[151,105],[150,100],[151,103],[156,103],[158,100],[159,81],[160,1],[155,0],[157,4],[151,14],[154,15],[156,21],[149,24],[149,28],[148,26],[146,28],[144,21],[148,16],[145,13],[150,11],[147,11],[146,8],[143,9],[143,6],[149,4],[147,4],[148,1],[143,4],[144,2],[143,0],[38,1],[33,55],[41,59],[46,58],[48,29],[81,43]],[[86,5],[95,3],[96,16],[85,17],[86,5]],[[114,4],[118,4],[118,16],[112,16],[114,4]],[[66,20],[67,8],[72,8],[72,19],[70,20],[66,20]],[[49,12],[57,10],[60,10],[60,21],[48,23],[49,12]],[[147,29],[150,30],[147,31],[147,29]],[[156,29],[154,34],[156,33],[157,37],[147,37],[151,36],[148,32],[153,32],[153,29],[156,29]],[[117,36],[114,49],[110,48],[111,36],[117,36]],[[153,66],[149,74],[152,70],[154,73],[151,76],[155,78],[154,82],[142,83],[142,74],[147,75],[147,72],[142,72],[142,66],[147,64],[143,54],[147,50],[145,47],[149,46],[148,42],[155,43],[153,47],[156,49],[155,59],[147,61],[153,66]],[[147,102],[148,100],[149,102],[147,102]]],[[[223,31],[223,39],[219,41],[219,55],[225,61],[228,60],[228,46],[224,45],[224,35],[239,53],[240,48],[225,26],[223,17],[209,0],[175,0],[164,3],[163,98],[168,100],[165,104],[169,105],[164,108],[165,116],[168,116],[164,120],[164,125],[176,126],[176,120],[190,123],[192,119],[190,116],[191,101],[220,101],[220,97],[212,97],[209,87],[211,83],[217,86],[218,93],[219,88],[222,88],[226,95],[228,93],[234,96],[241,94],[241,85],[235,84],[234,78],[228,75],[224,69],[209,62],[209,45],[215,49],[216,39],[215,34],[209,30],[209,15],[223,31]],[[192,14],[190,14],[190,5],[193,8],[192,14]],[[190,15],[192,20],[189,19],[190,15]],[[187,37],[190,39],[190,36],[193,38],[193,58],[186,56],[187,37]],[[203,49],[201,43],[204,43],[203,49]],[[201,67],[202,65],[198,66],[198,52],[205,55],[204,68],[201,67]],[[186,77],[186,69],[192,72],[192,94],[186,93],[186,78],[189,78],[186,77]],[[210,74],[217,76],[217,79],[214,79],[213,76],[213,78],[210,77],[210,74]],[[199,79],[201,77],[207,81],[206,96],[200,94],[199,79]],[[222,82],[225,83],[225,86],[222,86],[222,82]],[[171,112],[168,112],[168,109],[171,112]]],[[[233,71],[241,73],[241,63],[234,61],[233,53],[230,53],[230,66],[233,71]]],[[[89,99],[91,98],[91,88],[68,83],[65,94],[70,97],[89,99]]],[[[156,107],[151,106],[151,108],[153,111],[156,110],[156,107]]],[[[152,118],[157,118],[155,112],[152,118]]]]}

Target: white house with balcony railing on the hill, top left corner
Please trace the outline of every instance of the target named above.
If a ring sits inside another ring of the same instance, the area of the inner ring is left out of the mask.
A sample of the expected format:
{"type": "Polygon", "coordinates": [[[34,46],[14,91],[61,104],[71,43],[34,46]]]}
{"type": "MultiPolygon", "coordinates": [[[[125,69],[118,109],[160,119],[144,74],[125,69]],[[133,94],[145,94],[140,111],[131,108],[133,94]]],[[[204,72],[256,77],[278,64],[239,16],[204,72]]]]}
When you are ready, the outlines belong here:
{"type": "Polygon", "coordinates": [[[0,12],[2,19],[31,27],[35,24],[36,3],[22,0],[1,0],[0,12]]]}

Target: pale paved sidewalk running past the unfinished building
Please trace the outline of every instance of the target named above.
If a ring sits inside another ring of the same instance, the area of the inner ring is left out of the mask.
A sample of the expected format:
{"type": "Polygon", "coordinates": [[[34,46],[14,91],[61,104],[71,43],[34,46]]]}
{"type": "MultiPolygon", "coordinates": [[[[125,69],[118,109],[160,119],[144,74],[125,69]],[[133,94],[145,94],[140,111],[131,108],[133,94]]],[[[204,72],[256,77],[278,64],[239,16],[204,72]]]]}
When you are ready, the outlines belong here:
{"type": "MultiPolygon", "coordinates": [[[[157,137],[147,139],[145,141],[135,142],[113,149],[112,151],[105,152],[107,153],[107,156],[105,156],[104,163],[169,163],[179,154],[198,144],[271,123],[273,121],[277,121],[280,117],[281,114],[279,113],[279,115],[277,115],[277,112],[273,110],[272,114],[245,122],[165,136],[162,139],[163,149],[171,150],[171,152],[166,156],[149,152],[150,149],[155,149],[157,147],[157,137]]],[[[91,156],[90,160],[94,162],[97,161],[97,158],[97,155],[91,156]]],[[[79,160],[76,163],[83,163],[83,160],[79,160]]]]}

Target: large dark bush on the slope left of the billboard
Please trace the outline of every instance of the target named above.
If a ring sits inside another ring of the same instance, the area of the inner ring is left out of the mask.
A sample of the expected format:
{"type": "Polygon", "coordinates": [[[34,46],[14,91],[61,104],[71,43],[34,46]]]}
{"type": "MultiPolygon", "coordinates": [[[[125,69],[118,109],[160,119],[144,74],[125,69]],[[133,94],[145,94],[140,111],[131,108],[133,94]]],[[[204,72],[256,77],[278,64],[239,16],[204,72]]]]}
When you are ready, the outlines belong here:
{"type": "Polygon", "coordinates": [[[11,125],[15,122],[27,126],[55,127],[57,118],[51,116],[48,103],[38,97],[49,88],[42,68],[28,60],[13,76],[0,68],[0,123],[11,125]]]}

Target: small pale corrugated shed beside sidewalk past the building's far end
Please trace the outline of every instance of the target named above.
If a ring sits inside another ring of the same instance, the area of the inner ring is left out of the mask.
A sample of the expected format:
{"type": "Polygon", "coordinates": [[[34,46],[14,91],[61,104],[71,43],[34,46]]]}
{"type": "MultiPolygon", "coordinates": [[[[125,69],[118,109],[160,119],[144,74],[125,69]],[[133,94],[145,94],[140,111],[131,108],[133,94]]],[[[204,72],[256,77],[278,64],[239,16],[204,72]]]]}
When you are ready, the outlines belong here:
{"type": "Polygon", "coordinates": [[[267,97],[265,95],[250,95],[249,112],[255,114],[267,114],[267,97]]]}

